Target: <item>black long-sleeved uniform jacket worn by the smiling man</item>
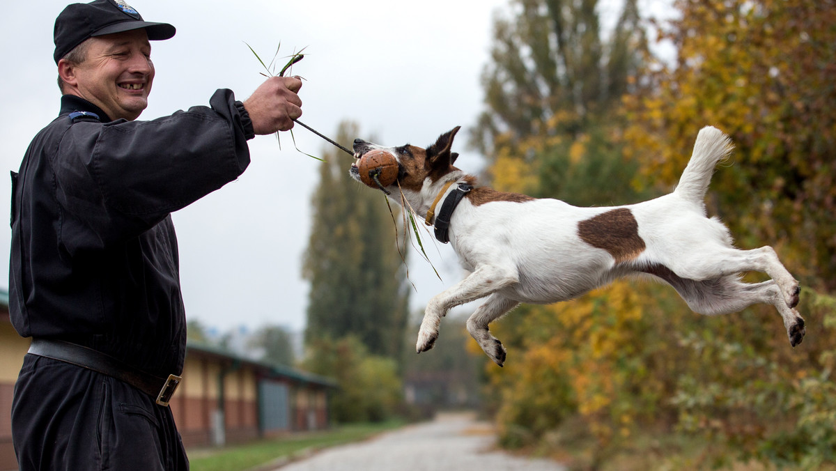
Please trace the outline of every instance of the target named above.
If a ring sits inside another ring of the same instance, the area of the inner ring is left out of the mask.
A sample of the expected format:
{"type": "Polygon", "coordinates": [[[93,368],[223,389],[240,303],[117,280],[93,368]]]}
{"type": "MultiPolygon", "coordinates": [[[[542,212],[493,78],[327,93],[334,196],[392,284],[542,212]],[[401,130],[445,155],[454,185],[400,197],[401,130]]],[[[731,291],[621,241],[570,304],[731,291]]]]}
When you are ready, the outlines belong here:
{"type": "Polygon", "coordinates": [[[110,121],[73,95],[13,173],[9,310],[18,334],[69,340],[166,377],[186,319],[171,212],[237,178],[252,123],[210,107],[110,121]]]}

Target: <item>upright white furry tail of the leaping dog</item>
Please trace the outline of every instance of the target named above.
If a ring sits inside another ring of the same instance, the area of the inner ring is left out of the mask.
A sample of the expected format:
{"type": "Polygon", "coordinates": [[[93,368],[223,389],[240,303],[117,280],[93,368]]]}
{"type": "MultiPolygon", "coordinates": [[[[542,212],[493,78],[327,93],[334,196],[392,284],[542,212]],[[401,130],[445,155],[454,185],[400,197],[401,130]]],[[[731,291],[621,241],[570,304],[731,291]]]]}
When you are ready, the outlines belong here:
{"type": "Polygon", "coordinates": [[[716,127],[706,126],[696,135],[691,161],[682,172],[674,193],[700,206],[705,205],[706,191],[718,161],[728,156],[732,140],[716,127]]]}

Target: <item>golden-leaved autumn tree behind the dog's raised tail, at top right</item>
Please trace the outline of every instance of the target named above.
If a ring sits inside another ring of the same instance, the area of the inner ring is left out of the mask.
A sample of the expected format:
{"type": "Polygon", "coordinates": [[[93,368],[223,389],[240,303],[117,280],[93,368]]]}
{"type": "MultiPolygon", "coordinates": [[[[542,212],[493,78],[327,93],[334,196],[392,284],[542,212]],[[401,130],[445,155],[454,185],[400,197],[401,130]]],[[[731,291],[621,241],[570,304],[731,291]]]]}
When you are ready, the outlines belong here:
{"type": "Polygon", "coordinates": [[[836,290],[836,2],[681,0],[663,31],[678,51],[629,100],[628,149],[670,186],[697,131],[736,151],[713,212],[742,245],[770,243],[804,284],[836,290]]]}

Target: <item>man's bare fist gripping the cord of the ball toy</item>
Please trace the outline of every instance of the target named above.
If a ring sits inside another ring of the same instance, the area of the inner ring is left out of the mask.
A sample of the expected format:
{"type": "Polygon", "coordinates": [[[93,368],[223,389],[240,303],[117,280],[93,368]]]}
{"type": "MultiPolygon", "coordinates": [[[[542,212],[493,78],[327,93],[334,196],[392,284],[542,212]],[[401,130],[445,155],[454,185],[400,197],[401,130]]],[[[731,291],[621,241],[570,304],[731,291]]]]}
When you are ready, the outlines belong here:
{"type": "Polygon", "coordinates": [[[302,88],[297,77],[271,77],[244,101],[256,134],[273,134],[293,128],[293,120],[302,115],[302,100],[296,92],[302,88]]]}

